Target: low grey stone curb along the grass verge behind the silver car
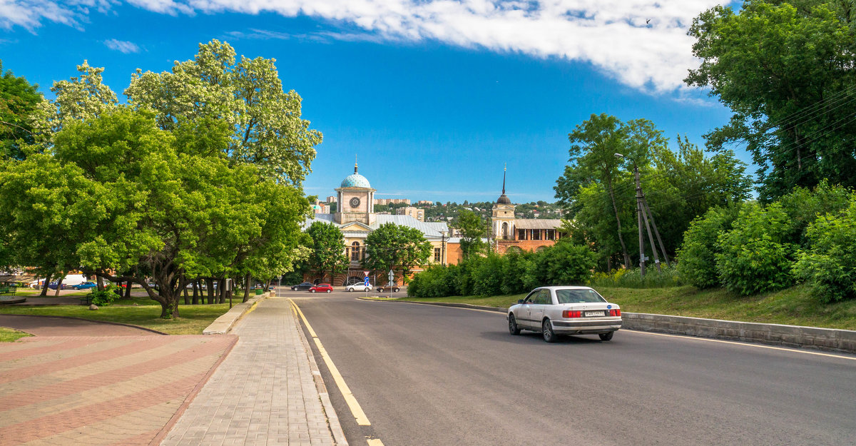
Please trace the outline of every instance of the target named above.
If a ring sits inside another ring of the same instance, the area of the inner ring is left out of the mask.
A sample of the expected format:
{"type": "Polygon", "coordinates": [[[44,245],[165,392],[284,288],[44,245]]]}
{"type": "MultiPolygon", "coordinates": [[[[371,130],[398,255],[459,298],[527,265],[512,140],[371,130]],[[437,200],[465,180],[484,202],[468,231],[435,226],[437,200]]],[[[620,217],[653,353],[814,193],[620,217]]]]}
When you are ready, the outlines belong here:
{"type": "MultiPolygon", "coordinates": [[[[491,312],[508,312],[508,308],[449,302],[413,302],[409,300],[372,300],[376,302],[407,302],[409,304],[455,306],[491,312]]],[[[752,342],[791,348],[812,348],[856,354],[856,331],[837,330],[800,325],[760,324],[720,319],[668,316],[644,312],[622,312],[621,329],[652,331],[672,335],[707,337],[727,341],[752,342]]]]}

